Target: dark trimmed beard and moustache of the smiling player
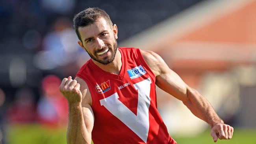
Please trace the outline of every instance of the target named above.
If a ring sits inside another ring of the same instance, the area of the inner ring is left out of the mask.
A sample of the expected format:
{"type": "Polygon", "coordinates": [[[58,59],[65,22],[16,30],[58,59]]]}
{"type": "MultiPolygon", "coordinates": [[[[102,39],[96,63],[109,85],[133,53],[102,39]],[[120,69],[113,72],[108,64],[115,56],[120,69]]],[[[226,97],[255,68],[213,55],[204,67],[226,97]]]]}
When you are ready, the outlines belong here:
{"type": "MultiPolygon", "coordinates": [[[[109,63],[112,63],[112,61],[114,61],[114,59],[115,59],[115,54],[117,53],[117,41],[115,40],[115,42],[113,44],[113,48],[111,48],[110,45],[106,45],[102,49],[106,50],[107,48],[109,49],[108,51],[111,52],[111,56],[110,57],[106,56],[103,59],[97,59],[95,56],[90,54],[87,50],[86,51],[93,60],[98,61],[99,63],[101,63],[103,65],[108,65],[109,63]]],[[[102,50],[95,51],[94,55],[97,56],[97,53],[100,51],[102,51],[102,50]]]]}

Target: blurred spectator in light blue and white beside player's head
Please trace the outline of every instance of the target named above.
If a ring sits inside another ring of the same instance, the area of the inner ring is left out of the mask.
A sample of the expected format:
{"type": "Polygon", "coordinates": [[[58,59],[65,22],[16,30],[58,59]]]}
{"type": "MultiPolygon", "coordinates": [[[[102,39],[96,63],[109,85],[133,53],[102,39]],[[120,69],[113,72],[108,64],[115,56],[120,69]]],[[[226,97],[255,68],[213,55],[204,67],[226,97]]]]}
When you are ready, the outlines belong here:
{"type": "Polygon", "coordinates": [[[76,61],[82,48],[72,28],[72,22],[66,17],[58,18],[53,31],[43,39],[43,51],[35,55],[35,66],[41,70],[52,70],[76,61]]]}

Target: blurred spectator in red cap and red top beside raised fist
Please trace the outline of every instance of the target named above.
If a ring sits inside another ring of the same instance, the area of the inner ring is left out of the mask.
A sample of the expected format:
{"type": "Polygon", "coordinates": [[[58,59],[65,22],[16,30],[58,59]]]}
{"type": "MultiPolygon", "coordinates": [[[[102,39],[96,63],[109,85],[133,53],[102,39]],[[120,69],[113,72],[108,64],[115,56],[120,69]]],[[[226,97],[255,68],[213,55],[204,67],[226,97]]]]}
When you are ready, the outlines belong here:
{"type": "Polygon", "coordinates": [[[39,122],[48,126],[67,124],[68,103],[59,92],[61,79],[57,76],[46,76],[42,81],[43,96],[39,100],[37,112],[39,122]]]}

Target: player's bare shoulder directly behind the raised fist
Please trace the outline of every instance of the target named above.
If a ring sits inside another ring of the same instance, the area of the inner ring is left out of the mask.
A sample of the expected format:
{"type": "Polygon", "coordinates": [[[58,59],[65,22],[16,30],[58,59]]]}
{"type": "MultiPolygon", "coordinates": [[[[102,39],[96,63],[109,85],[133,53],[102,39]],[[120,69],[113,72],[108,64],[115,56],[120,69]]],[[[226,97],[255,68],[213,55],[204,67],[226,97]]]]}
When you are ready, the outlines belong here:
{"type": "Polygon", "coordinates": [[[87,83],[80,77],[76,76],[75,80],[77,83],[80,84],[80,91],[82,92],[82,106],[89,104],[92,104],[92,98],[91,98],[91,93],[89,91],[87,83]]]}

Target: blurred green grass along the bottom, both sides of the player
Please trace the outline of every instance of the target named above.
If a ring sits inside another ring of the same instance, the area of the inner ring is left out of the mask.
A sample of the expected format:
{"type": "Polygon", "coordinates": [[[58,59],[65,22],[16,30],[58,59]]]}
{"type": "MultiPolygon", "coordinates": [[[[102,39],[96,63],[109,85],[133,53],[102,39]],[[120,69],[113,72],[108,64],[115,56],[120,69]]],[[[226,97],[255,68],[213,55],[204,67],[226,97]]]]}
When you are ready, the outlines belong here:
{"type": "MultiPolygon", "coordinates": [[[[66,144],[67,128],[47,128],[37,124],[9,126],[7,144],[66,144]]],[[[195,137],[172,136],[178,144],[256,144],[256,129],[236,129],[231,140],[214,143],[210,131],[195,137]]]]}

